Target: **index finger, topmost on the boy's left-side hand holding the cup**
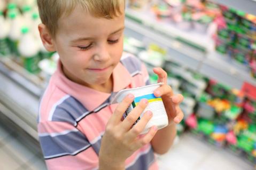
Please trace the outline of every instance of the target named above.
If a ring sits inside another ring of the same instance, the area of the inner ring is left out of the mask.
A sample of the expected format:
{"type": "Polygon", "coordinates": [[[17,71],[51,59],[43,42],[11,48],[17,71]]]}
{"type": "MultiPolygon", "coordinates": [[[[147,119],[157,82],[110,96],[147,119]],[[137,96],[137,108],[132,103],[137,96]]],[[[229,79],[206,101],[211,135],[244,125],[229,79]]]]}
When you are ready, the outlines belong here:
{"type": "Polygon", "coordinates": [[[134,100],[133,94],[128,94],[125,99],[122,100],[121,103],[118,104],[117,108],[115,109],[113,115],[108,120],[108,124],[118,124],[121,122],[123,113],[125,113],[126,109],[130,106],[131,102],[134,100]]]}

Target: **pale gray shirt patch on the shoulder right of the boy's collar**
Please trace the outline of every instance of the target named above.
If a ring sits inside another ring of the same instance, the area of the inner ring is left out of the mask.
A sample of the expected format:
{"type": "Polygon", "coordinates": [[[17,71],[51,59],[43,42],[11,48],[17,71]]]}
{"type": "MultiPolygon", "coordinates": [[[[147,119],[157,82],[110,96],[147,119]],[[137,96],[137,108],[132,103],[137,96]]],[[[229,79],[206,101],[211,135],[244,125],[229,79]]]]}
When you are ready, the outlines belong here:
{"type": "Polygon", "coordinates": [[[129,71],[131,75],[135,76],[137,74],[141,74],[142,63],[138,58],[128,56],[127,58],[121,60],[121,63],[129,71]]]}

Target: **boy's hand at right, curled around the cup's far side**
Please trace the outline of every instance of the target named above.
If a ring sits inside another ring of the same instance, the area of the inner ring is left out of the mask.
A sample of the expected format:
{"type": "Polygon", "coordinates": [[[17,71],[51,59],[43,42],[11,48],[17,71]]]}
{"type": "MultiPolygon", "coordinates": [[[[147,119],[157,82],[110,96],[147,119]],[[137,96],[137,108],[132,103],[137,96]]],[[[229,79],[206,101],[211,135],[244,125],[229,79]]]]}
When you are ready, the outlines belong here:
{"type": "Polygon", "coordinates": [[[167,85],[167,73],[165,70],[158,67],[154,68],[153,71],[158,75],[158,83],[164,83],[164,85],[160,86],[154,91],[154,95],[156,97],[161,96],[168,116],[169,124],[173,122],[178,124],[181,122],[184,116],[179,106],[183,100],[183,96],[181,94],[173,94],[172,87],[167,85]]]}

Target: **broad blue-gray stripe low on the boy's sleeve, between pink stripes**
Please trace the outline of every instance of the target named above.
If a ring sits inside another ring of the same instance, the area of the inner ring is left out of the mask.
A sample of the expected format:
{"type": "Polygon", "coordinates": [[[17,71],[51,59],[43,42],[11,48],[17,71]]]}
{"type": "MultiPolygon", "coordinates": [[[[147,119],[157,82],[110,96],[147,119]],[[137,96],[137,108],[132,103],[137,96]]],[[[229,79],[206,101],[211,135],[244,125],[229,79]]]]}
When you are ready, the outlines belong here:
{"type": "Polygon", "coordinates": [[[39,140],[45,158],[74,155],[81,149],[90,146],[87,137],[80,131],[71,131],[57,136],[39,136],[39,140]]]}

